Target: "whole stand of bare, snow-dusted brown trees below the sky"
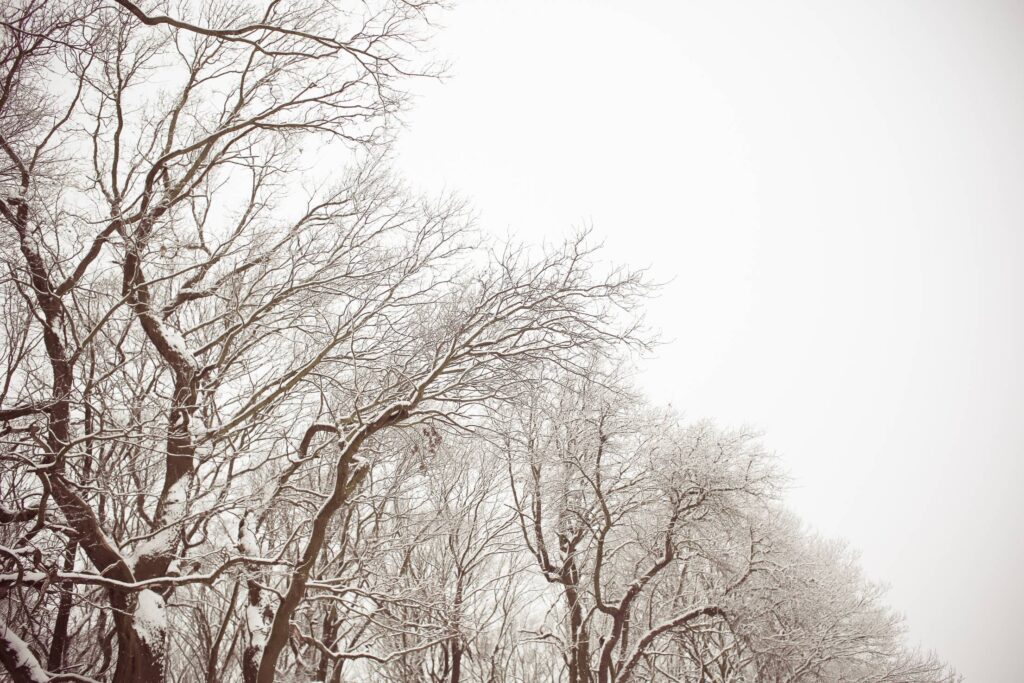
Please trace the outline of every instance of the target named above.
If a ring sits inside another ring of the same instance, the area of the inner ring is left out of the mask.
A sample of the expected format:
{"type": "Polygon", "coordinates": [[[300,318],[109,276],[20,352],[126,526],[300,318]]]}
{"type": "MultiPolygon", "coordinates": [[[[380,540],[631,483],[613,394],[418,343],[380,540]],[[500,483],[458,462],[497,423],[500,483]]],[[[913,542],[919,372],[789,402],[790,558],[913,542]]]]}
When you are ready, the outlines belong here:
{"type": "Polygon", "coordinates": [[[645,398],[643,270],[391,170],[444,11],[0,8],[0,678],[959,680],[645,398]]]}

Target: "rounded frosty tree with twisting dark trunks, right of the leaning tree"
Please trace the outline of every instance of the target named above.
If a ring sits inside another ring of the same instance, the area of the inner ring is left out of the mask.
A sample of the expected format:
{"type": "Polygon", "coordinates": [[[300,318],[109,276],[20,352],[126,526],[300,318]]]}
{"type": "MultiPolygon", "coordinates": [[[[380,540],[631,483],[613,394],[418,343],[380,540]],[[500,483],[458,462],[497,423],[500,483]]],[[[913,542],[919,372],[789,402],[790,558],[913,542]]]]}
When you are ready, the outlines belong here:
{"type": "Polygon", "coordinates": [[[728,567],[720,594],[694,595],[688,574],[701,560],[727,566],[732,546],[708,536],[772,483],[750,435],[683,428],[595,377],[565,378],[555,405],[531,405],[507,443],[522,454],[510,471],[524,541],[564,595],[568,678],[603,682],[630,680],[663,635],[726,616],[751,565],[728,567]]]}

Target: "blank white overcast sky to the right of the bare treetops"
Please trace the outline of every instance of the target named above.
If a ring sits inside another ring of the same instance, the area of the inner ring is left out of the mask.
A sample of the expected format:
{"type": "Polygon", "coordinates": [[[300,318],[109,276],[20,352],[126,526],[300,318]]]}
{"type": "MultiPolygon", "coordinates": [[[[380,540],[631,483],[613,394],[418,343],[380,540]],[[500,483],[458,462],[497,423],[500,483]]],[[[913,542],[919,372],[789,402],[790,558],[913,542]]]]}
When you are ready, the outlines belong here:
{"type": "Polygon", "coordinates": [[[399,167],[674,279],[642,378],[969,681],[1024,680],[1024,3],[464,0],[399,167]],[[770,6],[769,6],[770,5],[770,6]]]}

